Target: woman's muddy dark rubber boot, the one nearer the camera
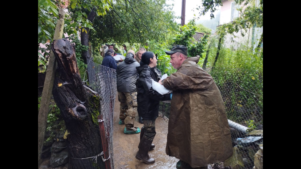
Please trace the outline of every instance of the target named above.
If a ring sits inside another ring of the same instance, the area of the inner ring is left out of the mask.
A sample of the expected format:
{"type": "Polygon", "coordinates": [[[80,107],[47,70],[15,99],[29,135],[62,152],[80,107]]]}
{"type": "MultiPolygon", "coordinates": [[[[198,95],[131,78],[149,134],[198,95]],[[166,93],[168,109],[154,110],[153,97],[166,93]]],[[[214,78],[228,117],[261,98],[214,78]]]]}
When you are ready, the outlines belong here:
{"type": "Polygon", "coordinates": [[[155,163],[155,159],[151,158],[148,155],[148,150],[150,149],[152,140],[146,140],[142,138],[139,143],[139,151],[136,154],[136,159],[142,160],[146,164],[153,164],[155,163]]]}

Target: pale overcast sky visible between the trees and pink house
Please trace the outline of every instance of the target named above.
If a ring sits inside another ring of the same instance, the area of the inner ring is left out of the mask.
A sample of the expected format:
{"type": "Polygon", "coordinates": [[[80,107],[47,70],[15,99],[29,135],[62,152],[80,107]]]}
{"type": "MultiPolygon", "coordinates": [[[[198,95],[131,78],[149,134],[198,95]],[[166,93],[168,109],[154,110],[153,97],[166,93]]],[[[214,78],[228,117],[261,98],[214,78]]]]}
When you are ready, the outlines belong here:
{"type": "MultiPolygon", "coordinates": [[[[166,0],[166,4],[172,4],[174,3],[173,11],[175,12],[176,16],[181,17],[182,13],[182,0],[166,0]]],[[[185,24],[188,23],[189,20],[193,19],[193,14],[195,14],[195,17],[197,18],[199,16],[199,10],[196,10],[198,6],[201,6],[201,0],[186,0],[185,5],[185,24]],[[194,10],[194,11],[192,11],[194,10]]],[[[202,8],[202,6],[201,6],[202,8]]],[[[216,14],[214,12],[213,14],[216,14]]],[[[196,21],[199,20],[210,20],[210,12],[207,12],[205,16],[201,16],[200,19],[196,19],[196,21]]],[[[176,20],[177,23],[181,24],[181,19],[176,20]]]]}

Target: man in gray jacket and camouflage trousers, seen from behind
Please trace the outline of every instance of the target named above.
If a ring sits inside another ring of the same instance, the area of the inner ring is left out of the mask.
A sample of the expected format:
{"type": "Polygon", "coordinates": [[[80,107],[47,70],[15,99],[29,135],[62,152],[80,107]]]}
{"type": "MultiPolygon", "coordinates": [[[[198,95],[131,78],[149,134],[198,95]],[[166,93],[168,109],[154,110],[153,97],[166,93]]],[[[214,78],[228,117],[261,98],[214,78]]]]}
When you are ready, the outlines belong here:
{"type": "Polygon", "coordinates": [[[137,112],[137,89],[136,81],[139,78],[135,60],[135,52],[127,51],[123,62],[117,66],[117,92],[120,102],[119,124],[125,124],[124,133],[140,133],[139,127],[134,127],[135,115],[137,112]]]}

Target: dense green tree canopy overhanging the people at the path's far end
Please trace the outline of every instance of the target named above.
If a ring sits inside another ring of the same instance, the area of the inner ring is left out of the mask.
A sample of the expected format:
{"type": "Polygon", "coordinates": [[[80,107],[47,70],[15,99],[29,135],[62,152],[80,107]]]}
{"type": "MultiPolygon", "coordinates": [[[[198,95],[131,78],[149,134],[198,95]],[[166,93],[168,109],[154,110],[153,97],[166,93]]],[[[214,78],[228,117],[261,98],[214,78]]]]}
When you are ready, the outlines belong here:
{"type": "Polygon", "coordinates": [[[149,40],[165,41],[178,30],[173,12],[165,1],[115,1],[105,17],[97,17],[89,40],[97,43],[129,42],[147,45],[149,40]]]}

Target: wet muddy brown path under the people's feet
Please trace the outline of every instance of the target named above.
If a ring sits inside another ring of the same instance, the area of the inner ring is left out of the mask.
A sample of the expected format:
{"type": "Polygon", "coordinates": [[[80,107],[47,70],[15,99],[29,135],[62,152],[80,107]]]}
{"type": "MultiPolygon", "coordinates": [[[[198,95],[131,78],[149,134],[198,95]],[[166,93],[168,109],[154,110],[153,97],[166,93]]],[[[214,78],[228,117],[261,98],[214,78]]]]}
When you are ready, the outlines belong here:
{"type": "MultiPolygon", "coordinates": [[[[113,152],[115,169],[176,169],[176,163],[179,159],[170,157],[165,153],[166,137],[168,129],[168,119],[158,117],[156,120],[156,136],[153,144],[155,148],[149,151],[149,156],[155,159],[154,164],[145,164],[135,158],[138,152],[140,133],[123,133],[125,125],[119,125],[119,103],[115,100],[114,123],[113,123],[113,152]]],[[[143,124],[139,122],[136,114],[134,126],[142,128],[143,124]]]]}

